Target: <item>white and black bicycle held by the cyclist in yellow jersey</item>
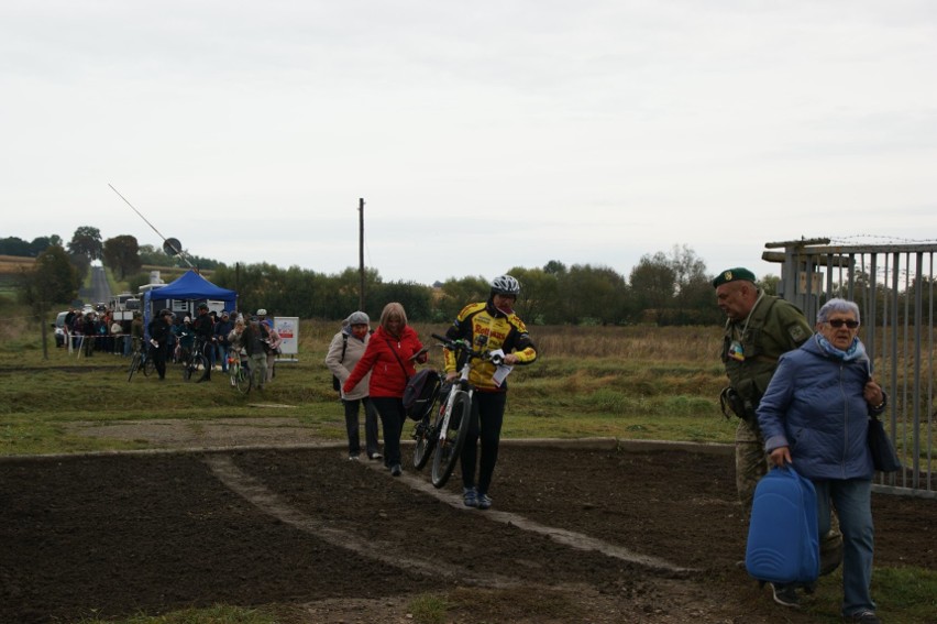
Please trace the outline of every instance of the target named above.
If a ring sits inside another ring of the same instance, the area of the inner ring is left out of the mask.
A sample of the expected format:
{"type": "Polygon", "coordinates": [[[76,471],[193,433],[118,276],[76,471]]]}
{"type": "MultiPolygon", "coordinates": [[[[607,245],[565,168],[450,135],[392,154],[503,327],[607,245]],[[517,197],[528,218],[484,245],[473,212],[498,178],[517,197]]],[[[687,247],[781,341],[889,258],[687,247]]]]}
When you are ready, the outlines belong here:
{"type": "Polygon", "coordinates": [[[417,441],[414,467],[423,468],[436,451],[432,456],[432,484],[442,488],[455,469],[472,424],[472,397],[475,394],[475,386],[468,383],[472,361],[490,360],[498,365],[503,362],[504,354],[500,351],[477,351],[472,349],[471,343],[461,339],[450,340],[436,333],[431,336],[442,342],[443,348],[455,351],[458,360],[463,362],[459,377],[452,382],[448,393],[440,392],[440,397],[444,398],[440,398],[432,423],[430,416],[433,409],[429,409],[414,429],[414,438],[417,441]]]}

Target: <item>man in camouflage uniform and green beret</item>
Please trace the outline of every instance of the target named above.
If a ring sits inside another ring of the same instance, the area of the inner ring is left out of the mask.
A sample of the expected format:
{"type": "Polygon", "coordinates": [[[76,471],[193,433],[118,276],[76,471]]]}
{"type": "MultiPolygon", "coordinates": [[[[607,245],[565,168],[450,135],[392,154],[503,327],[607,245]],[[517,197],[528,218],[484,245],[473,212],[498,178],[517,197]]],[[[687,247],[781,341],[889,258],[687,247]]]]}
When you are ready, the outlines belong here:
{"type": "MultiPolygon", "coordinates": [[[[797,349],[813,336],[804,313],[794,304],[767,294],[756,285],[754,274],[738,266],[720,272],[713,280],[716,304],[726,314],[721,360],[729,385],[719,401],[727,418],[737,416],[736,490],[746,522],[758,481],[768,473],[770,462],[756,409],[778,369],[782,354],[797,349]]],[[[823,572],[836,569],[842,558],[838,523],[822,539],[823,572]]],[[[772,584],[774,601],[796,606],[793,585],[772,584]]]]}

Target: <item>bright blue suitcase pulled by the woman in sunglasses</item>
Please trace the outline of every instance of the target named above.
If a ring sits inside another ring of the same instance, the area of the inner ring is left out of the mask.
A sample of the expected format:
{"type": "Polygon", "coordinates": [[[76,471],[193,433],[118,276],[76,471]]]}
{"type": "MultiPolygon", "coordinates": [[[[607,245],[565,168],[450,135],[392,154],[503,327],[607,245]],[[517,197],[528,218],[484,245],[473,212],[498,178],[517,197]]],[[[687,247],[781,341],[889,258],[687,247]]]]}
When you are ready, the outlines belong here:
{"type": "Polygon", "coordinates": [[[790,466],[754,489],[745,567],[762,583],[808,585],[819,577],[816,490],[790,466]]]}

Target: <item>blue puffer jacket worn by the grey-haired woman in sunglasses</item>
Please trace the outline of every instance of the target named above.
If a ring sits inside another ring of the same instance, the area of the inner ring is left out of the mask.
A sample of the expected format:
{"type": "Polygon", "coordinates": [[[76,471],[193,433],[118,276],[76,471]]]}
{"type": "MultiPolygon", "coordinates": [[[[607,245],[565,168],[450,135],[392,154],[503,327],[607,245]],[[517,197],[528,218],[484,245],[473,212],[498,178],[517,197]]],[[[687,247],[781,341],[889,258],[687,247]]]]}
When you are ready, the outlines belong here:
{"type": "Polygon", "coordinates": [[[809,479],[872,479],[862,396],[869,371],[864,353],[831,358],[815,338],[782,355],[758,406],[764,449],[790,447],[794,468],[809,479]]]}

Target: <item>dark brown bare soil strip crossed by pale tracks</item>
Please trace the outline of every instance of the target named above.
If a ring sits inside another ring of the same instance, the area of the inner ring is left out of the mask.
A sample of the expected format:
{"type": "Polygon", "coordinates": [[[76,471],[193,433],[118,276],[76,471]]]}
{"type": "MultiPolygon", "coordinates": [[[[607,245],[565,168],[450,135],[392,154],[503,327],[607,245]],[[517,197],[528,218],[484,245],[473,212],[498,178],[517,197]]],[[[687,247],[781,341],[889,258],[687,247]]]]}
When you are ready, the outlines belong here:
{"type": "MultiPolygon", "coordinates": [[[[408,451],[405,451],[408,456],[408,451]]],[[[0,461],[0,622],[274,604],[283,622],[813,622],[735,562],[731,456],[508,445],[490,512],[342,449],[0,461]]],[[[933,567],[937,505],[875,495],[877,562],[933,567]]],[[[835,616],[835,613],[830,613],[835,616]]]]}

